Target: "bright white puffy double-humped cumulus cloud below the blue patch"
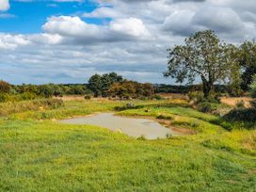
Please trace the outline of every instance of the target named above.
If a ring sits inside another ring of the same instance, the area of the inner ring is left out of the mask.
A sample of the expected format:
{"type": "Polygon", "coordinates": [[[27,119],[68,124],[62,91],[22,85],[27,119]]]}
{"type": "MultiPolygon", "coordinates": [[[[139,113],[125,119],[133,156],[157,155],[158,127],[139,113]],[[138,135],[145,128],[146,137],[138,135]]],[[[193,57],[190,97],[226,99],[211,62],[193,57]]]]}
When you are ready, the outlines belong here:
{"type": "Polygon", "coordinates": [[[143,22],[136,18],[116,19],[110,24],[87,24],[79,17],[51,17],[42,26],[46,33],[58,34],[80,42],[145,40],[150,33],[143,22]]]}

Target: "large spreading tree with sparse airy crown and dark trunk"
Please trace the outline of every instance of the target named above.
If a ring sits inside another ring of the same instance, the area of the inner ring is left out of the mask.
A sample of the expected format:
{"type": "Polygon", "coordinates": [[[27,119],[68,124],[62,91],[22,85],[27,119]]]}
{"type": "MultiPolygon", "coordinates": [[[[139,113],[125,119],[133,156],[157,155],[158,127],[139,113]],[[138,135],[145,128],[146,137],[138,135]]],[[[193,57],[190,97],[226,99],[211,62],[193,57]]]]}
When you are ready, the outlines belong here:
{"type": "Polygon", "coordinates": [[[168,49],[168,72],[165,76],[176,78],[177,83],[186,80],[192,84],[200,78],[204,98],[210,96],[216,82],[229,77],[231,59],[227,45],[214,31],[197,32],[184,40],[184,45],[168,49]]]}

